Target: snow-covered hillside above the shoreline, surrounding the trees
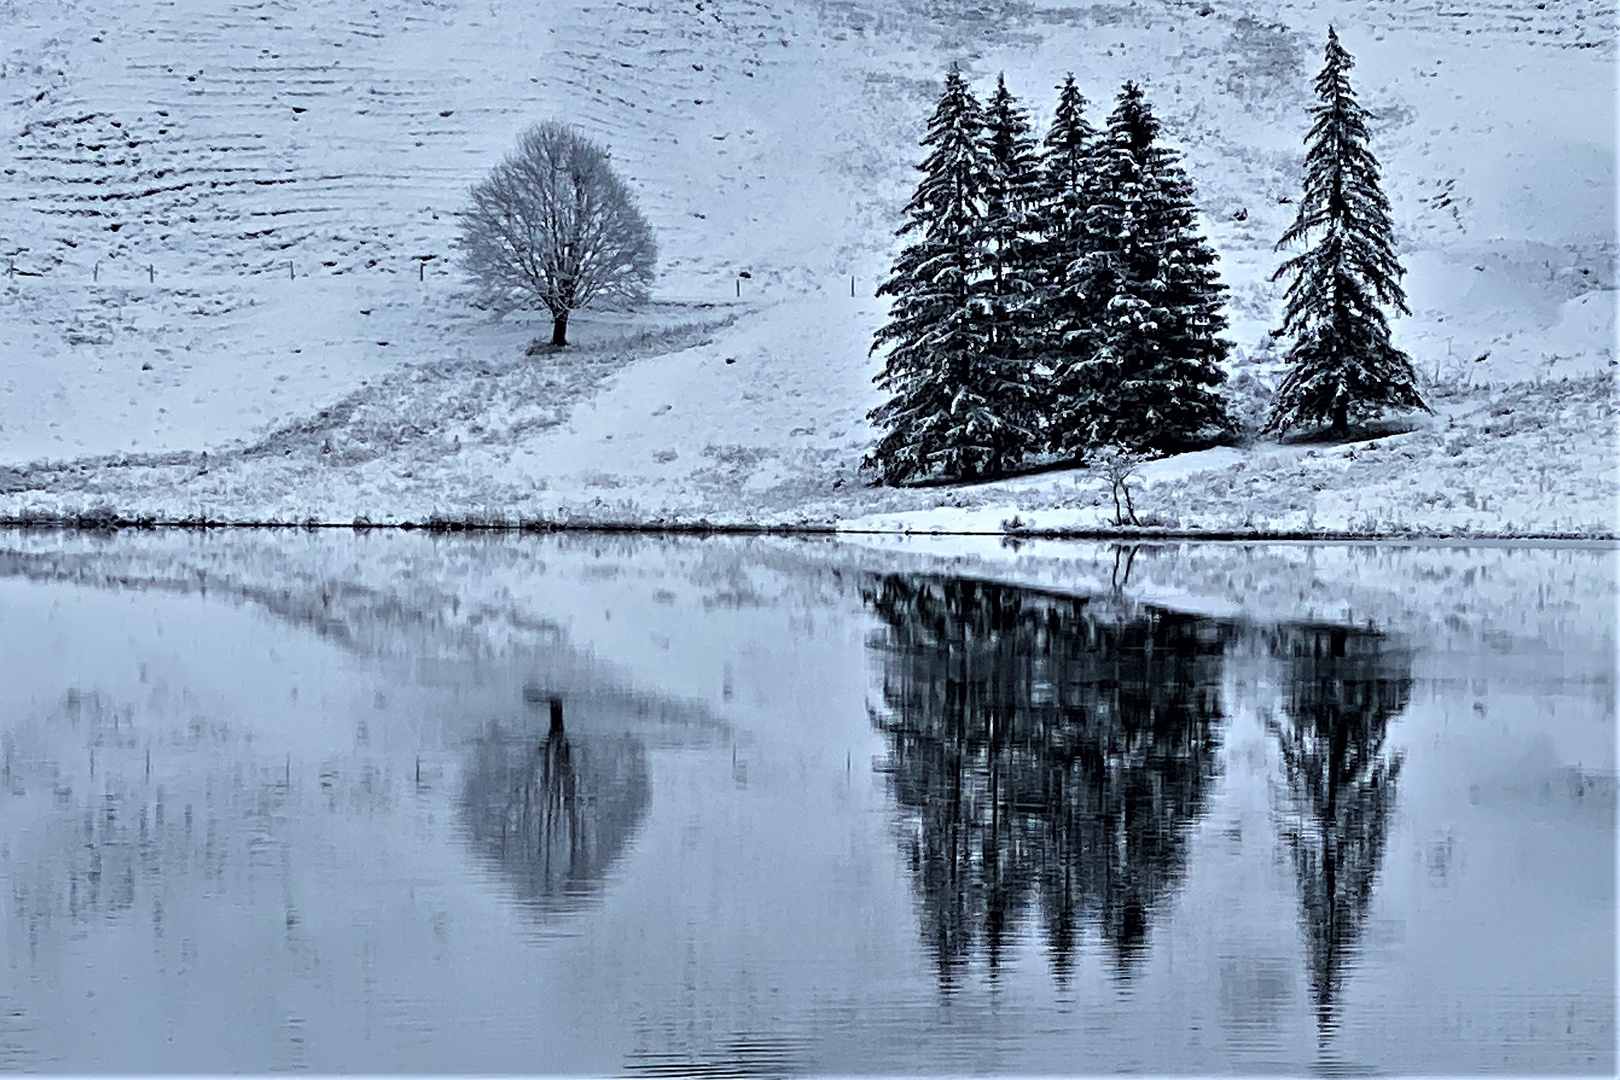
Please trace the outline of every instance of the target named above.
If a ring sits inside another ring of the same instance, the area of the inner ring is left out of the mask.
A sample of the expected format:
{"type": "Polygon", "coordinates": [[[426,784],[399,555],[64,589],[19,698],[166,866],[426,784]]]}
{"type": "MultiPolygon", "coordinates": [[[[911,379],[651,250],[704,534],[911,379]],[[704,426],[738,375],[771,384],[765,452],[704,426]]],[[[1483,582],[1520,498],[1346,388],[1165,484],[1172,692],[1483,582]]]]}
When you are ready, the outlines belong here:
{"type": "MultiPolygon", "coordinates": [[[[872,300],[944,66],[1132,78],[1275,381],[1327,24],[1374,110],[1434,418],[1157,461],[1165,528],[1612,536],[1615,8],[28,0],[0,8],[0,517],[1097,528],[1084,471],[867,487],[872,300]],[[452,212],[541,118],[612,147],[656,303],[471,309],[452,212]],[[739,274],[747,270],[748,277],[739,274]],[[850,295],[854,291],[854,295],[850,295]]],[[[1244,390],[1252,397],[1252,390],[1244,390]]],[[[1244,398],[1246,400],[1246,398],[1244,398]]]]}

